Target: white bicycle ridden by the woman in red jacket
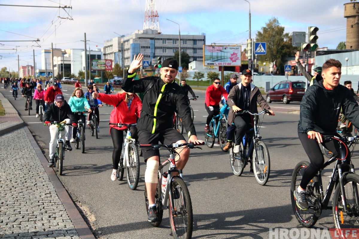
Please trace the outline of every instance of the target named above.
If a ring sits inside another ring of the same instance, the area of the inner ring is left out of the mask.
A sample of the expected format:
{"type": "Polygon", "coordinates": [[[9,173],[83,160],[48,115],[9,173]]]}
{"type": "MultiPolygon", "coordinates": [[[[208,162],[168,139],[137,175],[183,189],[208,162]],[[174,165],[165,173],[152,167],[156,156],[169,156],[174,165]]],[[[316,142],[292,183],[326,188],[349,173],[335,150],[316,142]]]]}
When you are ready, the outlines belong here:
{"type": "Polygon", "coordinates": [[[140,177],[140,157],[136,145],[136,140],[131,138],[130,128],[136,124],[108,123],[118,127],[127,127],[125,142],[122,144],[121,159],[117,168],[117,180],[123,179],[125,168],[127,171],[127,185],[131,190],[135,190],[140,177]]]}

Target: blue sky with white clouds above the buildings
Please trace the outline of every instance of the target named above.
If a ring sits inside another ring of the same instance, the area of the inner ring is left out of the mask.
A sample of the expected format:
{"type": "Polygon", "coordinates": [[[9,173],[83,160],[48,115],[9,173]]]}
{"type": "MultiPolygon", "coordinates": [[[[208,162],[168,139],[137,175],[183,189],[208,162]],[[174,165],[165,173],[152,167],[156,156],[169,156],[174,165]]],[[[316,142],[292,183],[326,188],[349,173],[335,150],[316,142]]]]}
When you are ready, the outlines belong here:
{"type": "MultiPolygon", "coordinates": [[[[346,40],[344,4],[338,0],[248,0],[251,5],[251,37],[272,17],[278,18],[285,32],[306,32],[316,26],[319,47],[335,49],[346,40]]],[[[249,4],[244,0],[157,0],[160,30],[163,34],[206,34],[206,44],[244,44],[248,38],[249,4]]],[[[40,39],[32,42],[0,42],[0,67],[17,69],[32,62],[35,50],[40,66],[40,53],[53,43],[57,48],[83,48],[84,33],[91,49],[101,48],[105,40],[118,34],[129,34],[143,28],[146,0],[0,0],[0,4],[34,6],[72,6],[66,11],[57,8],[0,6],[0,40],[40,39]],[[56,30],[55,30],[56,28],[56,30]],[[7,32],[6,32],[7,31],[7,32]],[[9,33],[10,32],[10,33],[9,33]],[[116,32],[116,33],[114,33],[116,32]],[[16,48],[15,50],[10,50],[16,48]],[[5,50],[4,50],[5,49],[5,50]]]]}

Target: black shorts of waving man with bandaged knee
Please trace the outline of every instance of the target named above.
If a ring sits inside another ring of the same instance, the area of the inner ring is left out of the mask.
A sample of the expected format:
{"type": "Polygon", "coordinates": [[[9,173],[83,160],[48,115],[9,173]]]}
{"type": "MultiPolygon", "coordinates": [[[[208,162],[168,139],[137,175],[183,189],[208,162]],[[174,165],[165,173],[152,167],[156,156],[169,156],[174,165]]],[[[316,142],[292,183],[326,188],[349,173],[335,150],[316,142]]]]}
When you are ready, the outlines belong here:
{"type": "MultiPolygon", "coordinates": [[[[183,135],[180,134],[180,132],[178,132],[176,129],[166,129],[155,134],[151,134],[139,129],[137,135],[140,144],[158,144],[158,142],[161,142],[161,144],[172,144],[179,140],[185,140],[185,137],[183,137],[183,135]]],[[[152,150],[151,148],[141,148],[141,150],[145,162],[152,156],[159,157],[159,150],[152,150]]]]}

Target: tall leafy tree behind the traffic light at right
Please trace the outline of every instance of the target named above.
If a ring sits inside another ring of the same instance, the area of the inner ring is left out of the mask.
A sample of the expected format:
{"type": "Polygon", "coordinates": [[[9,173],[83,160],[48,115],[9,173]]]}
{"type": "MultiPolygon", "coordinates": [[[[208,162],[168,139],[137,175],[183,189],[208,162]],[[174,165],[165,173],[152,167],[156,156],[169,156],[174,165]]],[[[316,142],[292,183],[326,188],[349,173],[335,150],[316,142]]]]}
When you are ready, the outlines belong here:
{"type": "Polygon", "coordinates": [[[292,46],[292,35],[284,33],[284,27],[277,18],[271,18],[262,31],[256,34],[256,42],[266,42],[266,54],[260,55],[260,61],[270,61],[277,70],[284,67],[286,57],[293,56],[297,48],[292,46]]]}

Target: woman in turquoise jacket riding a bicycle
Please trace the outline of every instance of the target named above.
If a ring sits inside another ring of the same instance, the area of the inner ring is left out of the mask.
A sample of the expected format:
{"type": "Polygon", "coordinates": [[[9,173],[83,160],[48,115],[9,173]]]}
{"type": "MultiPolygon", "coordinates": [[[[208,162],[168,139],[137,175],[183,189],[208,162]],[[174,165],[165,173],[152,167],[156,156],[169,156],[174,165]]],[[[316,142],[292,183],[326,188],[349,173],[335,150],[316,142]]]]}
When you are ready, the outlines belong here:
{"type": "MultiPolygon", "coordinates": [[[[72,112],[76,112],[76,111],[84,112],[86,109],[89,111],[89,113],[92,112],[91,107],[84,96],[84,91],[79,87],[76,87],[74,92],[72,93],[69,99],[69,105],[71,107],[72,112]]],[[[83,113],[81,113],[81,115],[76,114],[75,118],[76,118],[76,122],[78,122],[81,119],[82,123],[85,124],[86,117],[83,113]]],[[[72,138],[70,140],[71,143],[76,142],[75,139],[76,132],[77,132],[77,126],[74,126],[72,130],[72,138]]]]}

